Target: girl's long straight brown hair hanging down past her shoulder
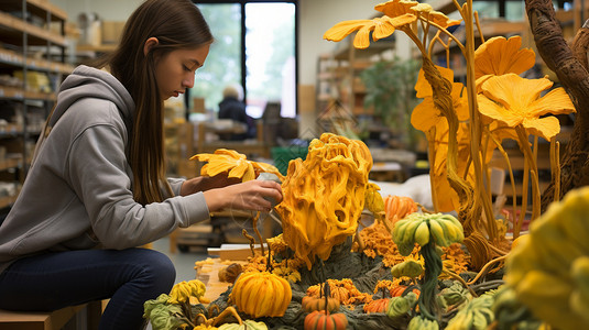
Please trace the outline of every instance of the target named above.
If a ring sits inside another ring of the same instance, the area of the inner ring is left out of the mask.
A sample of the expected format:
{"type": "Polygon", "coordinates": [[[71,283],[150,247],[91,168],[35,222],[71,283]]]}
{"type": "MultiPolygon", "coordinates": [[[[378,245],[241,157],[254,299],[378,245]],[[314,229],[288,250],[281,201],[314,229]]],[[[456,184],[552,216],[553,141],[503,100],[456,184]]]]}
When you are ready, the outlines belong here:
{"type": "Polygon", "coordinates": [[[155,58],[181,48],[210,44],[212,35],[198,8],[188,0],[148,0],[129,18],[118,48],[95,64],[109,66],[135,102],[129,164],[133,170],[133,197],[146,205],[170,196],[164,152],[164,106],[155,80],[155,58]],[[156,37],[149,53],[148,38],[156,37]]]}

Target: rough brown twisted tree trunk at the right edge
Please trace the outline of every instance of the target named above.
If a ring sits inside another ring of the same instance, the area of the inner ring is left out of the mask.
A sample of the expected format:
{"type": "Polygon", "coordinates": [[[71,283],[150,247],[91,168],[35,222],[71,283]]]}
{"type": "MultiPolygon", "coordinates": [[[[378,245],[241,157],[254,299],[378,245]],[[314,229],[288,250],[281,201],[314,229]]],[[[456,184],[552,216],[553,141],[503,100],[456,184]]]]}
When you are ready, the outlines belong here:
{"type": "MultiPolygon", "coordinates": [[[[560,190],[557,199],[561,199],[567,191],[589,184],[589,25],[585,23],[569,47],[550,0],[526,0],[525,9],[539,55],[548,68],[556,73],[577,109],[570,140],[560,157],[560,190]]],[[[553,177],[542,196],[543,211],[555,200],[554,195],[553,177]]]]}

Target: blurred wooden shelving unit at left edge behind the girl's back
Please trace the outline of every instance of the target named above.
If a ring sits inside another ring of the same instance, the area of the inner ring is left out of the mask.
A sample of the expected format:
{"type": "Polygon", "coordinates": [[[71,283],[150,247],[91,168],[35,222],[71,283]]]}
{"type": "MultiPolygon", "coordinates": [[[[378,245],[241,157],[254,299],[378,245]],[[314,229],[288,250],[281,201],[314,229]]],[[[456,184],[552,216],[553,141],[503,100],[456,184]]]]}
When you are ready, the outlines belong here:
{"type": "Polygon", "coordinates": [[[55,90],[74,69],[65,63],[66,20],[65,11],[46,0],[2,0],[0,213],[14,201],[55,90]]]}

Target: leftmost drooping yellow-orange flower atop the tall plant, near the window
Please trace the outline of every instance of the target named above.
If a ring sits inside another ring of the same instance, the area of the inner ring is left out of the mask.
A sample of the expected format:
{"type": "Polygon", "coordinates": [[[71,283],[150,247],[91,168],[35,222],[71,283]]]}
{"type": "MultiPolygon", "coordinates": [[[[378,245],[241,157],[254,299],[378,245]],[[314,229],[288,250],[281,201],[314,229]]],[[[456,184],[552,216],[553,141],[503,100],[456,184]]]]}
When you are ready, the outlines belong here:
{"type": "Polygon", "coordinates": [[[375,18],[372,20],[351,20],[339,22],[331,29],[327,30],[324,34],[324,38],[328,41],[339,42],[348,34],[358,31],[353,38],[353,46],[356,48],[368,48],[370,45],[370,32],[372,33],[372,40],[378,41],[383,37],[388,37],[400,26],[412,23],[416,20],[415,15],[405,14],[399,18],[375,18]]]}

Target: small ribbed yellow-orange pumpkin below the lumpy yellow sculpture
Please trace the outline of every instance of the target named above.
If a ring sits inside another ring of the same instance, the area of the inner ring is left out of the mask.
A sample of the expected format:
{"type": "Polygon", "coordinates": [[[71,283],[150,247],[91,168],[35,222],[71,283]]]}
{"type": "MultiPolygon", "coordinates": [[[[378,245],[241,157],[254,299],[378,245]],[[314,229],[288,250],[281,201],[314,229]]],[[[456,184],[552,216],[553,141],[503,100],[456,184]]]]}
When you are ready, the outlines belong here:
{"type": "Polygon", "coordinates": [[[269,272],[242,273],[231,290],[239,310],[254,317],[282,317],[291,304],[288,282],[269,272]]]}

